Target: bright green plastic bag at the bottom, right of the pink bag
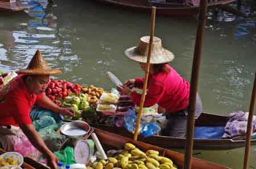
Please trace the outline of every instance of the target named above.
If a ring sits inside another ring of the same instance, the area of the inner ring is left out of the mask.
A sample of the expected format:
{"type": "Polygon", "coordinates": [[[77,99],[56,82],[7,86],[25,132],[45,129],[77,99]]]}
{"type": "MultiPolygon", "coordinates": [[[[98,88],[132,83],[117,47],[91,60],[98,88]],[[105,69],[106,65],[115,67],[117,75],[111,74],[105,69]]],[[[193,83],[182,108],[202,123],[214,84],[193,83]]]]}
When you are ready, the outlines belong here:
{"type": "Polygon", "coordinates": [[[65,147],[64,150],[55,151],[54,154],[57,156],[60,162],[63,163],[64,166],[67,164],[70,165],[76,163],[72,147],[65,147]]]}

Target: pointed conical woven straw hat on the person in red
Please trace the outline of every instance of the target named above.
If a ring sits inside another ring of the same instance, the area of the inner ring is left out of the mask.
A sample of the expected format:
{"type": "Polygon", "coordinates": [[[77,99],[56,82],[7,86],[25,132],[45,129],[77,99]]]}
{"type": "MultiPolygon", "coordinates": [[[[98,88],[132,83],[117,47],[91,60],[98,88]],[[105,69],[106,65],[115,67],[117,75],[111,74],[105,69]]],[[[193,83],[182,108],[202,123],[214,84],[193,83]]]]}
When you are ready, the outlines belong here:
{"type": "Polygon", "coordinates": [[[35,55],[32,57],[30,64],[28,64],[26,69],[16,71],[18,74],[28,74],[28,75],[50,75],[59,74],[61,70],[51,69],[48,66],[46,60],[43,58],[39,50],[36,50],[35,55]]]}

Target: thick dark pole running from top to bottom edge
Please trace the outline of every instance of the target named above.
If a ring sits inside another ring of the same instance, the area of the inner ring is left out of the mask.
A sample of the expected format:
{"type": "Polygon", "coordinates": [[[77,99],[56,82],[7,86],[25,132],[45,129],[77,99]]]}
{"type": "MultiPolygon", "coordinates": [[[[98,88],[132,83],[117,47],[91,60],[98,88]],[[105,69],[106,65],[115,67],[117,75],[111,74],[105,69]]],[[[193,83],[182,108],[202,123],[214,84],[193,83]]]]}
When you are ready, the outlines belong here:
{"type": "Polygon", "coordinates": [[[205,22],[207,19],[207,0],[200,1],[200,17],[199,25],[196,32],[196,44],[193,57],[192,73],[191,73],[191,87],[189,91],[189,106],[188,106],[188,119],[187,119],[187,138],[185,146],[185,159],[183,163],[184,169],[191,168],[191,157],[193,149],[193,135],[195,125],[195,109],[196,109],[196,93],[197,93],[197,82],[199,79],[200,60],[203,46],[203,35],[205,22]]]}

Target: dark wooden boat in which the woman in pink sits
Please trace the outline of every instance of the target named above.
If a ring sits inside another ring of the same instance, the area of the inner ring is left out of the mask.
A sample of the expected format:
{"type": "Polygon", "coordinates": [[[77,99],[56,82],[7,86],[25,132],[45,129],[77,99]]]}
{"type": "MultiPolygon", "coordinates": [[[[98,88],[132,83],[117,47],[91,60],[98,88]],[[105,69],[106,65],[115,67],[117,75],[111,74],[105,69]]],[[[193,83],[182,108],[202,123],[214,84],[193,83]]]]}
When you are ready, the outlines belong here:
{"type": "MultiPolygon", "coordinates": [[[[195,126],[225,126],[227,122],[226,116],[214,115],[208,113],[201,113],[199,119],[195,121],[195,126]]],[[[124,136],[133,138],[133,134],[127,132],[125,128],[118,128],[116,126],[107,126],[102,124],[90,124],[94,128],[106,130],[124,136]]],[[[167,136],[151,136],[151,137],[138,137],[139,141],[150,143],[166,149],[184,149],[185,138],[167,137],[167,136]]],[[[245,140],[232,140],[232,139],[195,139],[194,150],[230,150],[238,147],[245,146],[245,140]]],[[[256,145],[256,140],[251,140],[251,146],[256,145]]]]}

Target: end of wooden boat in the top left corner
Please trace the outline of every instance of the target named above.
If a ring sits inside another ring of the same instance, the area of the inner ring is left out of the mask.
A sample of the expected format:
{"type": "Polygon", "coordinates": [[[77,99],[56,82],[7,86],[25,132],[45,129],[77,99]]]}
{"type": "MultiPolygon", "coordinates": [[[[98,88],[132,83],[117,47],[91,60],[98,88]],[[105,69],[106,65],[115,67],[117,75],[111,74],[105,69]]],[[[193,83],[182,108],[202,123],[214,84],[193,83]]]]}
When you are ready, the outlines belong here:
{"type": "Polygon", "coordinates": [[[3,13],[8,12],[23,12],[24,10],[31,9],[32,6],[19,3],[18,1],[10,3],[8,0],[0,1],[0,11],[3,13]]]}

